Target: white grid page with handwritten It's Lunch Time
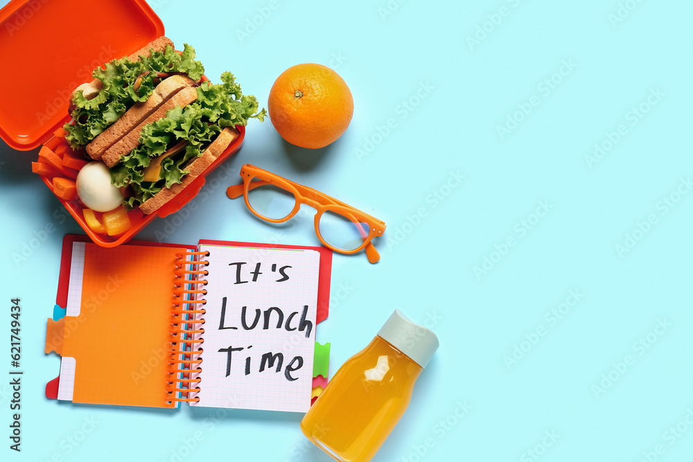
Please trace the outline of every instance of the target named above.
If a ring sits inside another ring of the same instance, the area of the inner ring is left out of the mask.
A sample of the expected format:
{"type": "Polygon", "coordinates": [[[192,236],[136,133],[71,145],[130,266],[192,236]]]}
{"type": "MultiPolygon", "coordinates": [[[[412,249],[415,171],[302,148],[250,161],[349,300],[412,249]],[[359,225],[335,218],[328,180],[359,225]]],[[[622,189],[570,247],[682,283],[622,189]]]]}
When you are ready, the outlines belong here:
{"type": "Polygon", "coordinates": [[[200,250],[210,254],[204,297],[207,313],[202,381],[197,395],[200,401],[194,405],[308,411],[313,381],[319,252],[215,245],[200,245],[200,250]],[[259,272],[255,276],[258,263],[259,272]],[[222,319],[224,299],[226,308],[222,319]],[[245,326],[241,319],[243,306],[247,307],[245,326]],[[271,307],[279,308],[281,316],[277,310],[270,310],[271,307]],[[301,317],[304,317],[302,321],[301,317]],[[280,318],[281,327],[277,328],[280,318]],[[270,362],[271,355],[276,355],[274,364],[270,362]]]}

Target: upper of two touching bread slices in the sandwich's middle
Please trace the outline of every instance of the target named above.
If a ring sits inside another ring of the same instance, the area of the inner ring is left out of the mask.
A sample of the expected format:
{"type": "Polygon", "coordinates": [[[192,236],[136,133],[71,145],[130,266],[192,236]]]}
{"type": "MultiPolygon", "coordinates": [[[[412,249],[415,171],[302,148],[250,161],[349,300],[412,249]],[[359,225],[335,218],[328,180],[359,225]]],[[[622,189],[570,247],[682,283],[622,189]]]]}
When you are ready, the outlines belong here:
{"type": "Polygon", "coordinates": [[[133,127],[137,127],[143,120],[148,118],[162,104],[166,103],[175,94],[185,87],[192,87],[195,82],[185,75],[173,75],[164,79],[146,101],[135,103],[125,114],[121,116],[113,125],[98,134],[91,143],[87,145],[87,154],[94,160],[100,160],[103,153],[112,145],[120,141],[123,136],[128,134],[133,127]]]}

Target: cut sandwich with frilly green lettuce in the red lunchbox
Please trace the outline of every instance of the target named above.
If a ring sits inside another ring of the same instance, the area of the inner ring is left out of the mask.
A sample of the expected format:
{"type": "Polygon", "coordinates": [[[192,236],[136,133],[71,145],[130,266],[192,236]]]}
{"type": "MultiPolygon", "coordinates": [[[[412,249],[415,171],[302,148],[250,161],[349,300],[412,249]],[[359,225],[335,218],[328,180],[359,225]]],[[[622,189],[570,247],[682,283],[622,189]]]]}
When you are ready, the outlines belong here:
{"type": "Polygon", "coordinates": [[[193,47],[178,52],[159,37],[73,91],[65,138],[105,163],[128,210],[156,211],[220,157],[239,136],[236,125],[263,121],[265,109],[232,73],[219,84],[203,73],[193,47]]]}

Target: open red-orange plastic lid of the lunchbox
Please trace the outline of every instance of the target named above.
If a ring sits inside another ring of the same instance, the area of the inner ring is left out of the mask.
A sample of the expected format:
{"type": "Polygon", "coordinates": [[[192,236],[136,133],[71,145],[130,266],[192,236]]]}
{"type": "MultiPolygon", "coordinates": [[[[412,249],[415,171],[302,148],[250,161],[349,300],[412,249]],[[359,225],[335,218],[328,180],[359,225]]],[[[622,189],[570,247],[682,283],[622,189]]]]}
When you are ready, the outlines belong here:
{"type": "Polygon", "coordinates": [[[17,150],[45,143],[91,71],[161,35],[144,0],[10,1],[0,10],[0,138],[17,150]]]}

